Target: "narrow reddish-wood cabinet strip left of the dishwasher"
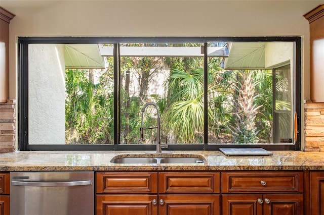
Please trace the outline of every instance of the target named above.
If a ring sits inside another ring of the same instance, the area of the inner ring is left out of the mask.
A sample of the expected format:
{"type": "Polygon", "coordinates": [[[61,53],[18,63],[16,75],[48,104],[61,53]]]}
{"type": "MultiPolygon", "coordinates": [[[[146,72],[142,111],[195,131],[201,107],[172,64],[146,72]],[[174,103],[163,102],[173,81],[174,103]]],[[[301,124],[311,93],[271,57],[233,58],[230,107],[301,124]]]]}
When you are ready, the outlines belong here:
{"type": "Polygon", "coordinates": [[[10,214],[10,176],[0,173],[0,215],[10,214]]]}

